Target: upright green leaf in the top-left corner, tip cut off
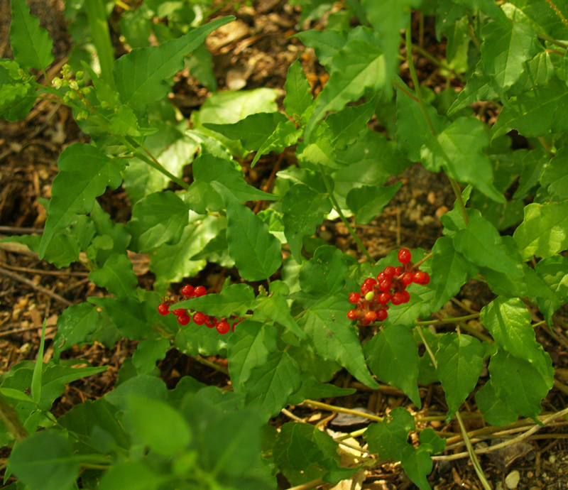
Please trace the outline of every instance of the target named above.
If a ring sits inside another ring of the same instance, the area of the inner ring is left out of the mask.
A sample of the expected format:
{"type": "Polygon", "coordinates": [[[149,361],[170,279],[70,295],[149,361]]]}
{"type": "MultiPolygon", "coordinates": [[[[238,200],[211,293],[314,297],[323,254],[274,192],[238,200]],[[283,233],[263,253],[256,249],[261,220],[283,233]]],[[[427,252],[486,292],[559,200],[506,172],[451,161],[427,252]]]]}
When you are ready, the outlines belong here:
{"type": "Polygon", "coordinates": [[[53,62],[53,41],[48,31],[40,27],[37,17],[31,15],[26,0],[11,0],[11,5],[10,42],[13,59],[23,68],[44,70],[53,62]]]}

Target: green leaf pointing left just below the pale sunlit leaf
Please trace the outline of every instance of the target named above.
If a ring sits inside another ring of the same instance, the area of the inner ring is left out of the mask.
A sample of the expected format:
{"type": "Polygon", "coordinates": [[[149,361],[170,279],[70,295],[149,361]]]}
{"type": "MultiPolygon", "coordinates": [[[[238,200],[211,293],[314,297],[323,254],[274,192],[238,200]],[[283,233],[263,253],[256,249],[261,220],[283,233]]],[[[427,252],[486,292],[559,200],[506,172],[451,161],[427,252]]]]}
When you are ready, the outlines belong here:
{"type": "Polygon", "coordinates": [[[273,134],[278,124],[285,121],[288,121],[288,118],[280,112],[257,112],[233,124],[203,123],[203,126],[230,140],[238,139],[245,150],[257,151],[273,134]]]}

